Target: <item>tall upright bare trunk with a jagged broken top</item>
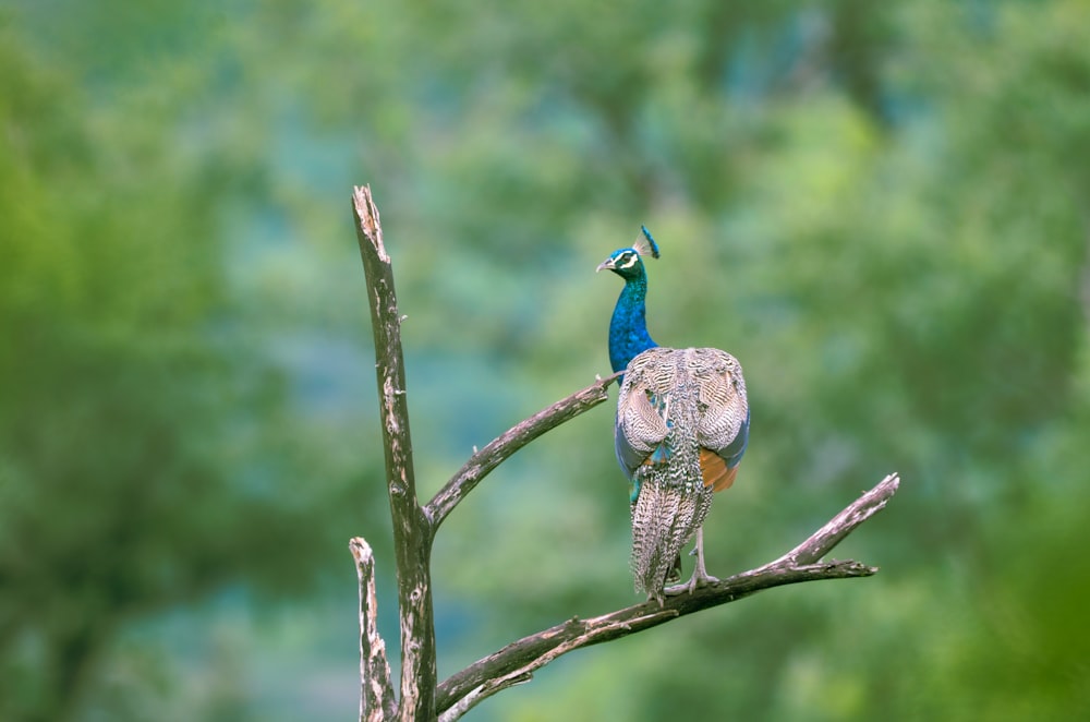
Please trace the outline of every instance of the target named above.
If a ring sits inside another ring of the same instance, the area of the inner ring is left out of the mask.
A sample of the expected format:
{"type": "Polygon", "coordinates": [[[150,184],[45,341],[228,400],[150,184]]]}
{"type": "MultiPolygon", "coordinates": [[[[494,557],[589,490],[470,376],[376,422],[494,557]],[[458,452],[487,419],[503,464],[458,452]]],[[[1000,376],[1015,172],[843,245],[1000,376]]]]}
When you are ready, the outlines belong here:
{"type": "Polygon", "coordinates": [[[393,268],[383,245],[383,227],[371,186],[352,194],[356,238],[367,279],[371,326],[375,337],[386,484],[393,518],[393,549],[401,616],[400,719],[435,719],[435,619],[432,609],[432,525],[416,501],[409,406],[405,400],[401,315],[393,290],[393,268]]]}

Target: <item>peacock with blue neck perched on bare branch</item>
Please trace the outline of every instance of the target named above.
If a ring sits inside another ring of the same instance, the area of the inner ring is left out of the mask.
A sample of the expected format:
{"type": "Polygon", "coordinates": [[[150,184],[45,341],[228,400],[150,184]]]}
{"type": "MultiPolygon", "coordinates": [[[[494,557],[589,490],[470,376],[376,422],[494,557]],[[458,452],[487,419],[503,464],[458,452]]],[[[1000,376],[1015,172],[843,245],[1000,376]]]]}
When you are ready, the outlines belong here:
{"type": "Polygon", "coordinates": [[[600,266],[625,279],[609,322],[609,362],[623,371],[614,446],[632,484],[632,573],[637,591],[692,592],[716,581],[704,566],[703,524],[712,495],[728,489],[749,442],[750,412],[741,364],[714,348],[664,348],[647,334],[647,275],[657,258],[645,227],[600,266]],[[681,547],[697,537],[697,565],[680,580],[681,547]]]}

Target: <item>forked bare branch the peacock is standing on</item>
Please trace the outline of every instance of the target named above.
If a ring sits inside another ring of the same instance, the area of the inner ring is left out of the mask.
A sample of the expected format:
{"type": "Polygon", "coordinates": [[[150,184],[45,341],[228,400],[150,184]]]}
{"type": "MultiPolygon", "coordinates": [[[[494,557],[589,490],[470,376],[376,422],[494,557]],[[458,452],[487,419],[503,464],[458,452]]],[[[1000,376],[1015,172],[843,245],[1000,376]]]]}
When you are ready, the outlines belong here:
{"type": "Polygon", "coordinates": [[[896,493],[899,483],[897,474],[886,477],[807,541],[771,564],[700,587],[692,594],[667,597],[662,606],[649,600],[593,619],[572,617],[562,624],[508,645],[451,675],[439,685],[436,709],[441,713],[440,719],[458,719],[483,699],[511,685],[529,681],[534,671],[580,647],[626,637],[679,616],[734,602],[772,587],[818,579],[867,577],[875,574],[877,571],[875,567],[858,562],[799,564],[799,559],[816,562],[832,551],[840,540],[882,509],[896,493]]]}

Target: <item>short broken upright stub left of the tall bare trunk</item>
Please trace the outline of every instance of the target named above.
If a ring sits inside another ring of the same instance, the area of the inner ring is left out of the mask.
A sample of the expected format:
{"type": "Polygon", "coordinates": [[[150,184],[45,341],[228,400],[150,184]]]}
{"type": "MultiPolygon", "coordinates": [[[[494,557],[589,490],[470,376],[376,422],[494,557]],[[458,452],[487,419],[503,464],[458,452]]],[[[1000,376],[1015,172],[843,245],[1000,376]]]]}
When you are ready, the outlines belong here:
{"type": "Polygon", "coordinates": [[[375,556],[371,545],[360,537],[348,545],[360,577],[360,722],[383,722],[393,719],[397,699],[390,683],[386,642],[378,634],[375,556]]]}

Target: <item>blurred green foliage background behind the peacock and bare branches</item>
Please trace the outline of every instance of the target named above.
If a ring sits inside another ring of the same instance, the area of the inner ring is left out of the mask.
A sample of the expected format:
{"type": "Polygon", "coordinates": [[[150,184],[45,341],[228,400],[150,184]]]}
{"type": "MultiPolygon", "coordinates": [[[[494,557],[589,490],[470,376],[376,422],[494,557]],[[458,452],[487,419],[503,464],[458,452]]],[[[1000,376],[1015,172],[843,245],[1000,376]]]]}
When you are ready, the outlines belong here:
{"type": "MultiPolygon", "coordinates": [[[[371,183],[420,492],[664,345],[744,364],[725,576],[899,471],[838,557],[581,650],[493,720],[1090,709],[1090,4],[0,3],[0,718],[346,720],[351,536],[397,647],[371,183]]],[[[638,600],[603,405],[435,547],[440,675],[638,600]]]]}

